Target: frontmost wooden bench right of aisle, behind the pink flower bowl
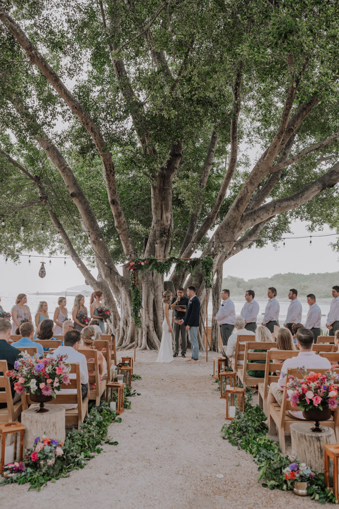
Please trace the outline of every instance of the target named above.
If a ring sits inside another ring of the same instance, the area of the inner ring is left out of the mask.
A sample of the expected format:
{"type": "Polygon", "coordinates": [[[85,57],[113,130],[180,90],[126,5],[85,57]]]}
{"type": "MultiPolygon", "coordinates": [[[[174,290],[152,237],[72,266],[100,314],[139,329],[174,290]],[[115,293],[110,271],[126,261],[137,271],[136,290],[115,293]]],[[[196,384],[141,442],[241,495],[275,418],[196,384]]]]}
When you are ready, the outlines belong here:
{"type": "MultiPolygon", "coordinates": [[[[307,371],[315,371],[316,373],[325,373],[327,370],[320,370],[319,367],[315,367],[312,369],[311,367],[307,368],[307,371]]],[[[338,370],[334,370],[336,373],[339,373],[338,370]]],[[[296,378],[302,379],[302,373],[299,373],[296,369],[288,369],[288,375],[293,375],[296,378]]],[[[336,381],[338,383],[338,381],[336,381]]],[[[336,383],[334,381],[334,383],[336,383]]],[[[286,399],[286,385],[283,391],[283,401],[280,406],[279,403],[271,403],[268,408],[268,433],[270,435],[276,435],[276,428],[278,428],[279,434],[279,444],[283,454],[285,454],[285,432],[290,432],[290,426],[294,422],[310,422],[310,424],[314,423],[314,420],[302,420],[295,419],[290,414],[287,413],[289,410],[300,410],[299,407],[292,407],[291,403],[286,399]]],[[[329,428],[334,429],[336,441],[339,440],[339,412],[334,412],[334,418],[331,417],[329,420],[320,421],[321,426],[327,426],[329,428]]]]}

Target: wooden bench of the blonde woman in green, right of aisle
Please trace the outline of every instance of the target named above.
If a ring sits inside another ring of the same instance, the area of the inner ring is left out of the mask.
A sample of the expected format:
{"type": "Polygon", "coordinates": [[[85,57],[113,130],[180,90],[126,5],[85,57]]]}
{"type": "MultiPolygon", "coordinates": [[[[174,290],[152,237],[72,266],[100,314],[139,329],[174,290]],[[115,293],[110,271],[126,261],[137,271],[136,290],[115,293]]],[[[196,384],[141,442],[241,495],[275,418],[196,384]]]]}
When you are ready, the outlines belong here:
{"type": "Polygon", "coordinates": [[[267,350],[276,347],[275,342],[259,342],[253,341],[248,342],[245,347],[245,353],[243,358],[243,366],[239,366],[237,368],[237,377],[239,381],[242,383],[244,388],[246,385],[259,385],[262,383],[264,377],[257,377],[248,374],[248,371],[265,371],[266,364],[266,355],[267,350]],[[250,350],[265,350],[264,352],[250,352],[250,350]],[[256,362],[258,360],[263,360],[265,363],[256,362]]]}

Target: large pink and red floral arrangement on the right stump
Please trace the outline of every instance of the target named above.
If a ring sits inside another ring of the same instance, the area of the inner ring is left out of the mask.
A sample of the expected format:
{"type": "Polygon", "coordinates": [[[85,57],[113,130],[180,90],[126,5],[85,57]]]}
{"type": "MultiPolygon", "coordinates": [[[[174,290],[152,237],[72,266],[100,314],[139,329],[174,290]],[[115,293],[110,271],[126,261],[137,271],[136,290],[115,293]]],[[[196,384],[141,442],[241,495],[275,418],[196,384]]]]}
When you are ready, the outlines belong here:
{"type": "Polygon", "coordinates": [[[339,394],[334,380],[338,380],[339,376],[335,372],[330,370],[322,375],[303,369],[298,371],[304,373],[303,379],[289,375],[289,381],[286,384],[286,398],[291,402],[292,407],[299,406],[301,410],[337,408],[339,394]]]}

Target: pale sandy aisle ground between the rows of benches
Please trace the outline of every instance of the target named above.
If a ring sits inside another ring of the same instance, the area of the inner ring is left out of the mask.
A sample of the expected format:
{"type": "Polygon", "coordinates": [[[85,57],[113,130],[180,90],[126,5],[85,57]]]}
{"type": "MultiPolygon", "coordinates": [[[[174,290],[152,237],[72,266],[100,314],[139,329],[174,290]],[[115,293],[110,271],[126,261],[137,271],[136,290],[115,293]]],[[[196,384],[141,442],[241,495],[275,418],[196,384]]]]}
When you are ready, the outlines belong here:
{"type": "Polygon", "coordinates": [[[2,487],[0,507],[320,507],[308,497],[262,488],[252,457],[221,438],[225,401],[215,390],[211,358],[190,365],[180,356],[157,364],[157,352],[137,352],[134,372],[142,380],[132,388],[141,395],[132,398],[122,422],[109,428],[118,445],[104,445],[84,469],[40,493],[27,492],[27,486],[2,487]]]}

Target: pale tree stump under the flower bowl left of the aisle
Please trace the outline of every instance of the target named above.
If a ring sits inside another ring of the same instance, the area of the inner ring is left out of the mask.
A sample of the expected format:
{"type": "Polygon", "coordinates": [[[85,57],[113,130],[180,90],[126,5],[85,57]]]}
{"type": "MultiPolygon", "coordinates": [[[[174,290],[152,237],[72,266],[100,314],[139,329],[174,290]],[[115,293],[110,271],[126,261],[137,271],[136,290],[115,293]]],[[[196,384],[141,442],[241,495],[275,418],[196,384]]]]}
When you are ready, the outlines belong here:
{"type": "Polygon", "coordinates": [[[46,435],[52,440],[65,442],[65,408],[59,405],[46,405],[48,412],[36,413],[39,405],[31,405],[21,413],[21,422],[25,425],[24,448],[30,449],[37,437],[46,435]]]}

